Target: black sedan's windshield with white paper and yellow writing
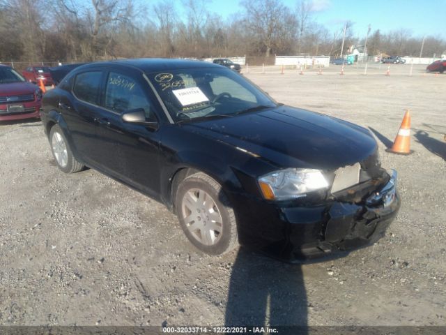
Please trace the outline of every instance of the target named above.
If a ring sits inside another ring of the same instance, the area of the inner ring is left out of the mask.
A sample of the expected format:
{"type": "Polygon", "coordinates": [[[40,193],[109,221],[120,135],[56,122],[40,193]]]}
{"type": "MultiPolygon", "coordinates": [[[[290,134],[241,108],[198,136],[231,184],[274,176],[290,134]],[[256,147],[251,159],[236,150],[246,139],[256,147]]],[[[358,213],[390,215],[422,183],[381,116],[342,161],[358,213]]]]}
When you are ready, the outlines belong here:
{"type": "Polygon", "coordinates": [[[226,68],[187,68],[149,73],[174,121],[233,117],[276,107],[260,89],[226,68]]]}

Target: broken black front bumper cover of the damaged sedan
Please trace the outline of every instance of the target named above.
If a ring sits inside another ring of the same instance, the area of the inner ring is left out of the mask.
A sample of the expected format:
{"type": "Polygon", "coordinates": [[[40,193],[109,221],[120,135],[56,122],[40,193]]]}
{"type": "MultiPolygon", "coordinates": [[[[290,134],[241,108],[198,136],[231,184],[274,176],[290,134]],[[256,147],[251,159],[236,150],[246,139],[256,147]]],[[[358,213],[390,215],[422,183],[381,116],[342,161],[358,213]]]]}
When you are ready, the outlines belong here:
{"type": "Polygon", "coordinates": [[[397,172],[392,170],[387,184],[360,203],[332,201],[314,207],[275,209],[263,206],[256,212],[259,221],[252,222],[258,228],[255,239],[247,237],[243,225],[240,243],[288,262],[345,255],[383,237],[400,204],[397,172]]]}

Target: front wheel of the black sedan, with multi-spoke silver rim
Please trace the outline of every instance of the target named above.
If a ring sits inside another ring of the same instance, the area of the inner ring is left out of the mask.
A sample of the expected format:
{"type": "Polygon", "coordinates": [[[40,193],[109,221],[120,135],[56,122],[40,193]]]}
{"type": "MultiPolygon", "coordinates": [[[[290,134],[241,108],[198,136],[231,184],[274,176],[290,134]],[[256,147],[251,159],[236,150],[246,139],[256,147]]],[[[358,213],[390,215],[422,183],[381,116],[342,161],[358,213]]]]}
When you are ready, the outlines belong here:
{"type": "Polygon", "coordinates": [[[181,181],[175,206],[181,229],[203,253],[222,255],[238,245],[233,208],[222,186],[207,174],[198,172],[181,181]]]}

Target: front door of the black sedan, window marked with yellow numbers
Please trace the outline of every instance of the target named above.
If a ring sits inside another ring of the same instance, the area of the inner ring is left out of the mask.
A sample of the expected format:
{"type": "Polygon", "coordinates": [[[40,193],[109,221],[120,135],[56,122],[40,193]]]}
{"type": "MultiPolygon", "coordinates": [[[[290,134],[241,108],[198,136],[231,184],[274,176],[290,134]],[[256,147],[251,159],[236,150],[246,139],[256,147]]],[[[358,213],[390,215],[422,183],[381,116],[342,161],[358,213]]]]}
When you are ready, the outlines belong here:
{"type": "Polygon", "coordinates": [[[143,108],[156,121],[150,89],[139,71],[107,75],[102,108],[96,118],[100,168],[155,198],[160,193],[160,131],[122,121],[123,112],[143,108]],[[145,84],[145,85],[144,85],[145,84]]]}

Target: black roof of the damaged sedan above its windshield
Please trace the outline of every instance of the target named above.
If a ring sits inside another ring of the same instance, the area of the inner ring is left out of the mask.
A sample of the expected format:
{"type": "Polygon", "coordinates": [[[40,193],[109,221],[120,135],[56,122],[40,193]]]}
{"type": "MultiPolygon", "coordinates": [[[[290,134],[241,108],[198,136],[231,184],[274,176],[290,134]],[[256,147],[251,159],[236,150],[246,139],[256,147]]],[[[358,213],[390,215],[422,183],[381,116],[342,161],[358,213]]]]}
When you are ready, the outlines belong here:
{"type": "Polygon", "coordinates": [[[141,58],[141,59],[117,59],[115,61],[99,61],[79,66],[89,68],[95,66],[130,66],[137,68],[144,73],[151,73],[164,70],[177,70],[183,68],[213,68],[219,67],[207,61],[192,61],[190,59],[167,59],[167,58],[141,58]]]}

